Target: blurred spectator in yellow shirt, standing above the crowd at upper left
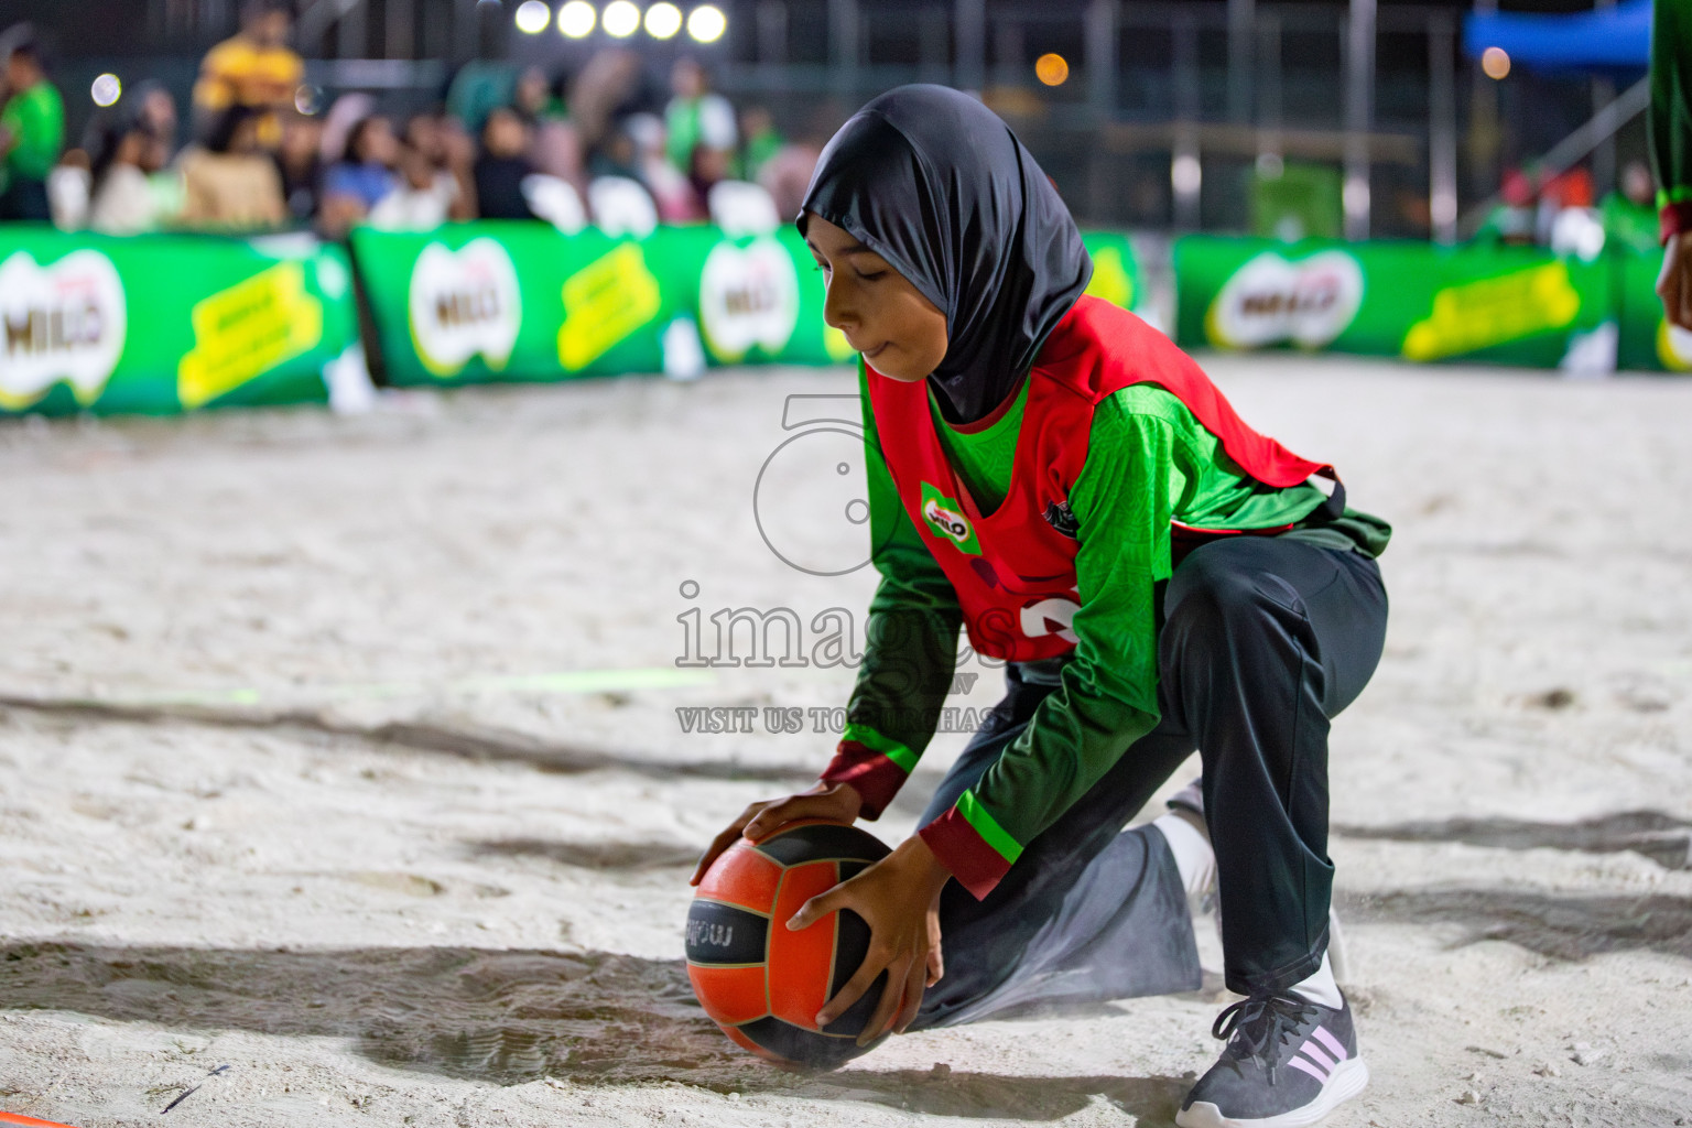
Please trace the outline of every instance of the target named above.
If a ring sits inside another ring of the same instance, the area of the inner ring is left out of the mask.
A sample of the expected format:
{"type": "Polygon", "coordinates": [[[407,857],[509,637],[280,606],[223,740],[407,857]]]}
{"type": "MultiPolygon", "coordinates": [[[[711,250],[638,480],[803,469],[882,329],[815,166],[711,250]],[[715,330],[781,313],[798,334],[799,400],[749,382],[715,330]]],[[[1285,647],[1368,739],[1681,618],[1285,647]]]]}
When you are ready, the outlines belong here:
{"type": "Polygon", "coordinates": [[[240,32],[206,52],[195,83],[195,115],[201,130],[215,129],[230,107],[257,110],[262,149],[283,140],[281,113],[294,105],[305,63],[288,46],[294,29],[288,0],[247,0],[240,32]]]}

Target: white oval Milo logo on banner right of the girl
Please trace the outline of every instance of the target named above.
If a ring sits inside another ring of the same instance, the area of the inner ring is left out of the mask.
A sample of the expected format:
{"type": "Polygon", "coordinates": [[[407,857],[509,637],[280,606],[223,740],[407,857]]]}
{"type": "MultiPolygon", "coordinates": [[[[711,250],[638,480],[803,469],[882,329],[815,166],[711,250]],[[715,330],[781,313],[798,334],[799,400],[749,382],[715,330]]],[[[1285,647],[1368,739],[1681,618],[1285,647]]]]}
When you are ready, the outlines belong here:
{"type": "Polygon", "coordinates": [[[1220,348],[1291,342],[1328,345],[1364,304],[1364,272],[1343,250],[1299,262],[1264,252],[1233,272],[1205,315],[1205,335],[1220,348]]]}

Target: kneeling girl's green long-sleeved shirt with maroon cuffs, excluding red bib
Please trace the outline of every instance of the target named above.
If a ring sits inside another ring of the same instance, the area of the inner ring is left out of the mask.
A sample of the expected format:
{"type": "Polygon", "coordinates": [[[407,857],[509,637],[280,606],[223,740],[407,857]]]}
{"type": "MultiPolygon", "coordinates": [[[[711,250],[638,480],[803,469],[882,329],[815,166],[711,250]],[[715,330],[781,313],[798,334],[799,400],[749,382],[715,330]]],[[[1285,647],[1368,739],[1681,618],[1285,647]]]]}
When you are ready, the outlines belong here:
{"type": "MultiPolygon", "coordinates": [[[[958,597],[919,538],[882,457],[870,411],[865,431],[870,516],[880,587],[870,605],[865,663],[848,705],[841,751],[824,773],[851,783],[876,817],[934,736],[951,688],[958,597]]],[[[1022,426],[1024,384],[1010,409],[975,433],[936,433],[958,475],[985,507],[1008,489],[1022,426]]],[[[1098,404],[1069,502],[1076,521],[1079,611],[1061,685],[1027,731],[959,800],[973,835],[929,835],[931,847],[978,896],[1022,847],[1063,817],[1159,720],[1157,632],[1162,583],[1176,565],[1173,523],[1205,529],[1276,529],[1333,548],[1379,555],[1391,529],[1367,514],[1311,519],[1327,501],[1313,485],[1271,489],[1247,477],[1222,441],[1174,394],[1123,387],[1098,404]],[[998,857],[963,854],[992,849],[998,857]]]]}

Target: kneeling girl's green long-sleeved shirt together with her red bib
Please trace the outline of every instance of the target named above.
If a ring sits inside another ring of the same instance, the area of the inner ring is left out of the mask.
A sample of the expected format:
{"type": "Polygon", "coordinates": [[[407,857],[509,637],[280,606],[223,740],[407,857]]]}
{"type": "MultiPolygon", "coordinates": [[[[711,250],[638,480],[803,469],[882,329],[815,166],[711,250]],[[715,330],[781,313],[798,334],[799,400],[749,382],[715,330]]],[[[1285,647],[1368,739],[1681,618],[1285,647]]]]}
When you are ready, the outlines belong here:
{"type": "Polygon", "coordinates": [[[1029,729],[922,829],[976,896],[1156,727],[1159,592],[1183,546],[1255,533],[1376,555],[1391,533],[1333,516],[1306,480],[1325,467],[1252,431],[1166,337],[1090,298],[980,426],[948,426],[926,384],[865,370],[861,391],[882,583],[822,778],[880,815],[934,734],[959,626],[992,658],[1068,658],[1029,729]]]}

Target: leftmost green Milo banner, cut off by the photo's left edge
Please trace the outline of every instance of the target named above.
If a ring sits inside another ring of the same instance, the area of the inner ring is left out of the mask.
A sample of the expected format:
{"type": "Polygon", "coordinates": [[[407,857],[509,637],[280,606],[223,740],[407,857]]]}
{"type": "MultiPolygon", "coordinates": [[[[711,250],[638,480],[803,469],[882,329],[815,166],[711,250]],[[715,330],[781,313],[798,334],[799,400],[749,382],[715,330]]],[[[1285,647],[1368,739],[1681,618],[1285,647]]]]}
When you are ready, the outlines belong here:
{"type": "Polygon", "coordinates": [[[0,411],[323,401],[355,342],[350,281],[311,238],[0,227],[0,411]]]}

